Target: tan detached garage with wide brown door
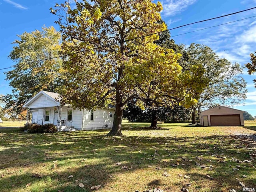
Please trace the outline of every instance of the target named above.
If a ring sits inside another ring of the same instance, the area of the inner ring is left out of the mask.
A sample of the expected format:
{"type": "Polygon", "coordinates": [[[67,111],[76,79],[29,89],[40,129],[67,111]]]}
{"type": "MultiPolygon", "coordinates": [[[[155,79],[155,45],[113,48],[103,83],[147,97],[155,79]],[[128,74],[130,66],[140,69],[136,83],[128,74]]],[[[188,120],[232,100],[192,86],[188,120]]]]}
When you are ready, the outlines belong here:
{"type": "Polygon", "coordinates": [[[200,113],[201,126],[243,126],[244,112],[224,106],[216,106],[200,113]]]}

